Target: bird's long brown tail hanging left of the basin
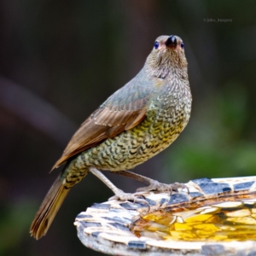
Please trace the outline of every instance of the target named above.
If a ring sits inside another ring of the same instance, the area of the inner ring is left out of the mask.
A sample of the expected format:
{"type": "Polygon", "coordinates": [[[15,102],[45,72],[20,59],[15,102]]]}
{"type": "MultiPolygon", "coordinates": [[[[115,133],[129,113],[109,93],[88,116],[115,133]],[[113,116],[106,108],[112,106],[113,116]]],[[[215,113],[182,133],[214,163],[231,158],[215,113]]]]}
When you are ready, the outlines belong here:
{"type": "Polygon", "coordinates": [[[38,240],[46,234],[69,190],[64,187],[61,175],[57,177],[32,222],[31,236],[38,240]]]}

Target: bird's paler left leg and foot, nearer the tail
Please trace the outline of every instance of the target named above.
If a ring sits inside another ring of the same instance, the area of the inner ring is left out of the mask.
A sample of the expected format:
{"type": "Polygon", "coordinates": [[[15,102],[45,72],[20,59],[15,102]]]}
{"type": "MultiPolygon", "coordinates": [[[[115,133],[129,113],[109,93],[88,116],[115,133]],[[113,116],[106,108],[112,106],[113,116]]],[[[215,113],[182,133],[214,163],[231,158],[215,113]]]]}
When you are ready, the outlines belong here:
{"type": "Polygon", "coordinates": [[[137,193],[125,193],[123,190],[117,188],[102,172],[98,171],[96,168],[90,167],[90,172],[98,177],[103,183],[105,183],[109,189],[113,191],[113,196],[108,199],[110,200],[122,200],[122,201],[134,201],[145,203],[148,208],[150,207],[148,202],[145,199],[137,198],[138,196],[143,196],[137,193]]]}

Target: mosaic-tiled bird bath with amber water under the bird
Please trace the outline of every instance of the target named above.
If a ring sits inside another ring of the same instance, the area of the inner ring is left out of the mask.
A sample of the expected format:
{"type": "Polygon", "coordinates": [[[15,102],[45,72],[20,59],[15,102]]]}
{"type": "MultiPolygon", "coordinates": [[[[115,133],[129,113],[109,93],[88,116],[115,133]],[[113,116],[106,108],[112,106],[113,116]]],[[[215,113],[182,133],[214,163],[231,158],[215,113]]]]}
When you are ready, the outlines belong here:
{"type": "Polygon", "coordinates": [[[130,201],[94,204],[76,218],[80,241],[112,255],[256,255],[256,177],[186,186],[189,195],[142,192],[149,212],[130,201]]]}

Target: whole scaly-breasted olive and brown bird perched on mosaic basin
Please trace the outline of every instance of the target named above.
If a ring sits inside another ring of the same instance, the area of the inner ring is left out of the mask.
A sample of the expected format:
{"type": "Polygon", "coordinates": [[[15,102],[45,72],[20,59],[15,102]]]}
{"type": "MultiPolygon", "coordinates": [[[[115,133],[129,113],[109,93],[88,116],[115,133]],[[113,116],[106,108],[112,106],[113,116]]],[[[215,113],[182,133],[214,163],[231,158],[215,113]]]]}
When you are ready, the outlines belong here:
{"type": "Polygon", "coordinates": [[[184,43],[178,36],[160,36],[137,76],[80,125],[52,170],[65,164],[32,221],[30,233],[44,236],[67,193],[89,172],[113,190],[113,199],[132,200],[111,183],[109,171],[148,183],[143,189],[177,188],[128,170],[172,144],[189,122],[192,96],[184,43]]]}

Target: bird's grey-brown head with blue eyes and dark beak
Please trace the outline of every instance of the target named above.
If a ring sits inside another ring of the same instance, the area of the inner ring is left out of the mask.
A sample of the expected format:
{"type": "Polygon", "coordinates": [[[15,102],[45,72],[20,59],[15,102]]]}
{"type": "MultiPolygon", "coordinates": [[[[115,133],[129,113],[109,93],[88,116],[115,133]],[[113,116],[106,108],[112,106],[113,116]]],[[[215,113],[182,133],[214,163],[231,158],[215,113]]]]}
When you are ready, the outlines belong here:
{"type": "Polygon", "coordinates": [[[160,36],[154,42],[154,48],[148,55],[146,70],[154,77],[165,79],[168,73],[187,75],[188,62],[184,53],[182,38],[160,36]]]}

